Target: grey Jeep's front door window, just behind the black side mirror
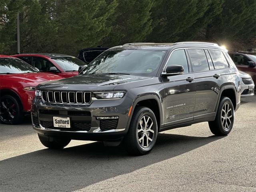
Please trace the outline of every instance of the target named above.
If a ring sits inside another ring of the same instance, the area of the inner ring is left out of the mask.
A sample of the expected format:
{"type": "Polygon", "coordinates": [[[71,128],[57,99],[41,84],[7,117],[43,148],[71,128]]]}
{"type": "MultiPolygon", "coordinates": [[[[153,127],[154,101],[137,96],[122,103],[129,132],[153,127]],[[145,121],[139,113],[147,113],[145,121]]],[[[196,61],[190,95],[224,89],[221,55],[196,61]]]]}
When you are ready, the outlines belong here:
{"type": "Polygon", "coordinates": [[[181,65],[184,68],[184,73],[188,73],[188,60],[184,49],[172,52],[166,67],[170,65],[181,65]]]}

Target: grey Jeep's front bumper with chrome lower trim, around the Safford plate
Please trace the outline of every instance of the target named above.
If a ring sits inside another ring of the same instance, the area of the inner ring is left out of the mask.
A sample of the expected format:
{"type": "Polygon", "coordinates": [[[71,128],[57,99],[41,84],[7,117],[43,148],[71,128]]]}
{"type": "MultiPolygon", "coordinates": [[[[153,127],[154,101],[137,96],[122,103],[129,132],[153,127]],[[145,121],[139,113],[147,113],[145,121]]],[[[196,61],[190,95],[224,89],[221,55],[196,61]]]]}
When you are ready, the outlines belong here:
{"type": "Polygon", "coordinates": [[[38,134],[48,137],[68,137],[74,140],[115,140],[128,131],[128,112],[132,100],[126,96],[117,100],[96,100],[90,104],[51,104],[40,98],[32,103],[32,126],[38,134]],[[97,117],[118,116],[117,120],[97,117]],[[53,117],[69,117],[71,128],[56,128],[53,117]]]}

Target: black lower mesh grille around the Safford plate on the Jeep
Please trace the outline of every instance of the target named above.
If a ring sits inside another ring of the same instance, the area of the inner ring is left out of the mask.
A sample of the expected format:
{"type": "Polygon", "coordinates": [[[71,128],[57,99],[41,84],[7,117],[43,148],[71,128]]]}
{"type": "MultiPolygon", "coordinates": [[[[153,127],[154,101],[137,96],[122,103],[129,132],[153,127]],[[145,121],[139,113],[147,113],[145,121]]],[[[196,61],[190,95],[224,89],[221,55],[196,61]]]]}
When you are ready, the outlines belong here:
{"type": "Polygon", "coordinates": [[[62,131],[89,131],[91,128],[90,123],[84,123],[84,122],[72,122],[70,128],[54,127],[53,121],[40,121],[40,124],[44,128],[58,129],[62,131]]]}

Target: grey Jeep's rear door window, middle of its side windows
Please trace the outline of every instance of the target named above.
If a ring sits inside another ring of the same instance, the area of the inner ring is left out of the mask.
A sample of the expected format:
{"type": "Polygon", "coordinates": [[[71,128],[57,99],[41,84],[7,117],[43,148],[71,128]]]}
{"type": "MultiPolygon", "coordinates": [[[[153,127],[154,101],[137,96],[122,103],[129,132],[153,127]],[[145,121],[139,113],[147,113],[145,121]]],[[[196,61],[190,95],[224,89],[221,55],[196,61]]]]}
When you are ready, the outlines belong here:
{"type": "Polygon", "coordinates": [[[188,49],[194,72],[208,71],[209,65],[203,49],[188,49]]]}

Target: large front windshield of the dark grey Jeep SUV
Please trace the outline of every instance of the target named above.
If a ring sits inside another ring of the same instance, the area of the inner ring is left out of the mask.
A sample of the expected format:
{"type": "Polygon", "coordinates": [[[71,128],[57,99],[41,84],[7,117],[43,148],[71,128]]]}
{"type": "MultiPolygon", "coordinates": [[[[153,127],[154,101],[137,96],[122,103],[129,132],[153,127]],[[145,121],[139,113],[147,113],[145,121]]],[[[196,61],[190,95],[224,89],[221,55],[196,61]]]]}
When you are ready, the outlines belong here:
{"type": "Polygon", "coordinates": [[[165,54],[164,50],[108,50],[93,60],[81,74],[156,76],[165,54]]]}

